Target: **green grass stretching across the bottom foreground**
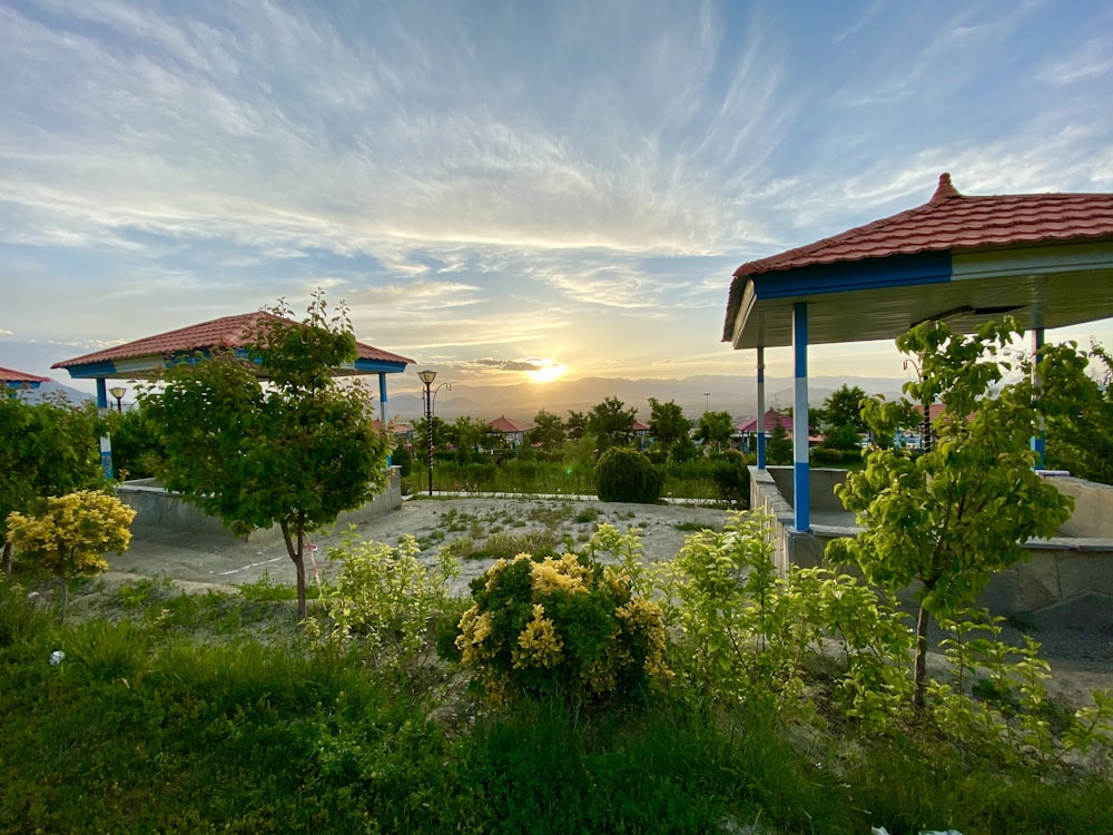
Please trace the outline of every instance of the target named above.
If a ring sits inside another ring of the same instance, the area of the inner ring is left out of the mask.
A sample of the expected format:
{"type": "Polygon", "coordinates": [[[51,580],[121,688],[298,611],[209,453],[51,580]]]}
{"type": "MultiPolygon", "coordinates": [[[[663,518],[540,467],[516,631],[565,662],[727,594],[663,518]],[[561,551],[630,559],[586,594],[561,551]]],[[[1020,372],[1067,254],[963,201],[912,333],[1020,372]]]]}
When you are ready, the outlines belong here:
{"type": "MultiPolygon", "coordinates": [[[[0,832],[1110,831],[1107,776],[1037,777],[929,728],[801,735],[680,687],[484,713],[452,678],[404,687],[296,631],[199,640],[228,609],[180,597],[142,581],[122,618],[59,626],[0,582],[0,832]]],[[[287,602],[225,606],[288,625],[287,602]]]]}

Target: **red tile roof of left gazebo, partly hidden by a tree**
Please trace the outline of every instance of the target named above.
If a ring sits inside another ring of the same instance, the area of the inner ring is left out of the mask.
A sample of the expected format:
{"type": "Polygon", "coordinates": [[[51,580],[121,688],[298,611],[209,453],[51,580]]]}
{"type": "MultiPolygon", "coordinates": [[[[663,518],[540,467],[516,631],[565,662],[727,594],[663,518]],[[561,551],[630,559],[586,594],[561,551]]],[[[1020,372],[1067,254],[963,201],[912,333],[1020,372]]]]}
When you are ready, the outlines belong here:
{"type": "MultiPolygon", "coordinates": [[[[112,360],[136,360],[146,356],[167,356],[170,354],[191,353],[206,348],[237,348],[243,347],[245,336],[252,326],[266,318],[278,318],[272,313],[257,311],[255,313],[242,313],[238,316],[224,316],[209,322],[201,322],[188,327],[179,327],[176,331],[155,336],[146,336],[135,342],[124,345],[116,345],[104,351],[95,351],[91,354],[77,356],[55,363],[53,369],[68,369],[75,365],[88,365],[91,363],[108,362],[112,360]]],[[[381,360],[384,362],[412,363],[405,356],[392,354],[388,351],[362,342],[356,343],[357,355],[361,360],[381,360]]]]}

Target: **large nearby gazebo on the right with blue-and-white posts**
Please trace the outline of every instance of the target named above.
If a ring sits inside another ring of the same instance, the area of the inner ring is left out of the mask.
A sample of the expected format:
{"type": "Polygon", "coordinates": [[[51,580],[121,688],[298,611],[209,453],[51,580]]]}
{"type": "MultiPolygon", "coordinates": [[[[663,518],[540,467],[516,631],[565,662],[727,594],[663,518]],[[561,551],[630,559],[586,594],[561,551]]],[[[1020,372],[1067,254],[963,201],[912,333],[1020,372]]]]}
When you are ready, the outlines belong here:
{"type": "MultiPolygon", "coordinates": [[[[792,347],[797,532],[810,529],[808,345],[927,321],[972,332],[1006,313],[1036,348],[1046,328],[1113,317],[1113,194],[966,196],[943,174],[922,206],[735,271],[722,341],[757,351],[759,415],[765,350],[792,347]]],[[[759,425],[759,470],[765,440],[759,425]]]]}

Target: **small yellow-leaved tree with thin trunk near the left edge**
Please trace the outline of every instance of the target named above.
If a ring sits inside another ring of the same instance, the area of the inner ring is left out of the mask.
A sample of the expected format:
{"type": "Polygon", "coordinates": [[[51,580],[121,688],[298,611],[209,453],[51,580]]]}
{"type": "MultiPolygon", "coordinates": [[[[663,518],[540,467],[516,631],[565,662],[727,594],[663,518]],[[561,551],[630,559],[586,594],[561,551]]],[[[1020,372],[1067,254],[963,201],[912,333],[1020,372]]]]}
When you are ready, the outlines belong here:
{"type": "Polygon", "coordinates": [[[115,495],[79,490],[32,501],[27,515],[9,513],[7,541],[14,546],[20,561],[58,578],[62,588],[59,619],[66,620],[69,581],[108,570],[105,553],[128,549],[135,517],[136,512],[115,495]]]}

